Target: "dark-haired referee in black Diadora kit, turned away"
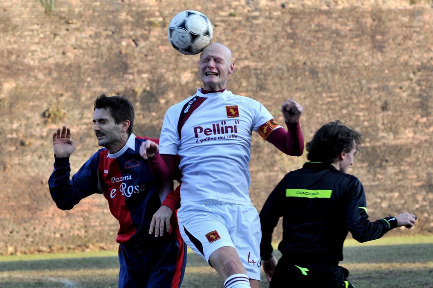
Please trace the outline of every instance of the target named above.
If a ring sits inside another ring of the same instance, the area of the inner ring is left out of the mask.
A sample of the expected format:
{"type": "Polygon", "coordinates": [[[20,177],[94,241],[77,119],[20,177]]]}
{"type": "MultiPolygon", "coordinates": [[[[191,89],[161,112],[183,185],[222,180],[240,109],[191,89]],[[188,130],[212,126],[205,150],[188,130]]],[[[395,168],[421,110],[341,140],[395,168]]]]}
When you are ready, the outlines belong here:
{"type": "Polygon", "coordinates": [[[355,287],[346,279],[349,271],[338,266],[348,232],[365,242],[396,227],[414,226],[416,216],[407,212],[368,220],[364,188],[346,174],[360,138],[338,120],[323,125],[307,143],[309,161],[286,174],[269,195],[260,212],[260,250],[270,288],[355,287]],[[282,257],[277,265],[271,240],[280,217],[282,257]]]}

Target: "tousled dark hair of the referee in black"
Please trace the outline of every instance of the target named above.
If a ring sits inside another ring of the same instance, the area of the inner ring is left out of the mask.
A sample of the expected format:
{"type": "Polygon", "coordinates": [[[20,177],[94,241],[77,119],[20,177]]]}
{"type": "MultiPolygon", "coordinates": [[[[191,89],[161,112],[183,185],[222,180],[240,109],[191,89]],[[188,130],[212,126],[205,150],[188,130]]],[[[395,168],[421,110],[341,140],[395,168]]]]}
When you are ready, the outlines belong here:
{"type": "Polygon", "coordinates": [[[334,163],[343,151],[353,149],[353,142],[361,144],[361,134],[339,120],[327,123],[307,142],[307,159],[312,162],[334,163]]]}

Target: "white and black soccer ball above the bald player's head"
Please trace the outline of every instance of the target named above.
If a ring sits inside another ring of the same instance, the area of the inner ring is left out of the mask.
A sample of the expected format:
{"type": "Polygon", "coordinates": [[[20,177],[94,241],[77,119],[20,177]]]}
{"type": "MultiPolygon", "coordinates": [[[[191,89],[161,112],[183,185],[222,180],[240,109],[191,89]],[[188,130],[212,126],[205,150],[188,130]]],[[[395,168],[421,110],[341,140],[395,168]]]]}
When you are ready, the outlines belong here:
{"type": "Polygon", "coordinates": [[[210,44],[213,28],[206,15],[186,10],[171,19],[167,34],[174,49],[185,55],[195,55],[210,44]]]}

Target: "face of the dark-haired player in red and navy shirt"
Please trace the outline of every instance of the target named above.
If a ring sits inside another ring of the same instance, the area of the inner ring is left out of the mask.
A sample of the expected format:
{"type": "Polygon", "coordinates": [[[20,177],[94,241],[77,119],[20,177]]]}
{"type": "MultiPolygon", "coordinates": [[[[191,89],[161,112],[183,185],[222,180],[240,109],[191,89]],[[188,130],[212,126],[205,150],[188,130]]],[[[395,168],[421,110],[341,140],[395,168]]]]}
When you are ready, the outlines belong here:
{"type": "Polygon", "coordinates": [[[122,124],[116,124],[113,116],[105,108],[95,109],[93,123],[98,145],[109,149],[111,153],[119,151],[116,151],[117,147],[124,145],[122,124]]]}

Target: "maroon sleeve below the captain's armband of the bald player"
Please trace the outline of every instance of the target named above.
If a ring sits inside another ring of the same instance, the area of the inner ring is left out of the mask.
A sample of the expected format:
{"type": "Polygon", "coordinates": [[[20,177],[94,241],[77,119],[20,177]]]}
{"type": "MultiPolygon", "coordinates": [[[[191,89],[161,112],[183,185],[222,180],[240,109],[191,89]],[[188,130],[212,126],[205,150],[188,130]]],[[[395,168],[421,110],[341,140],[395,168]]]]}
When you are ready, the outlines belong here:
{"type": "Polygon", "coordinates": [[[281,152],[291,156],[301,156],[304,153],[304,136],[301,125],[298,123],[287,123],[287,130],[279,128],[268,135],[268,142],[272,143],[281,152]]]}

